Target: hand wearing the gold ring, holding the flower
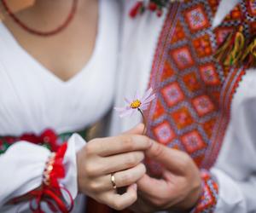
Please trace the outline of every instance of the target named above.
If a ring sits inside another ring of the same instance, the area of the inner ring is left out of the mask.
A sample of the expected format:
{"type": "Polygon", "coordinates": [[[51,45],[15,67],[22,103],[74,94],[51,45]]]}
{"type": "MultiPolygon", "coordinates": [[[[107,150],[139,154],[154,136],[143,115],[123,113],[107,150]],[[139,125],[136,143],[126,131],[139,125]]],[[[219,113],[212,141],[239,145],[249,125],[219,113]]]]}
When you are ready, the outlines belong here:
{"type": "Polygon", "coordinates": [[[141,164],[143,151],[151,146],[143,133],[143,124],[124,135],[94,139],[77,155],[79,192],[122,210],[137,200],[136,182],[145,174],[141,164]],[[111,174],[117,187],[127,187],[118,194],[113,189],[111,174]]]}

